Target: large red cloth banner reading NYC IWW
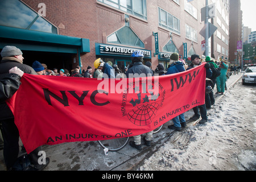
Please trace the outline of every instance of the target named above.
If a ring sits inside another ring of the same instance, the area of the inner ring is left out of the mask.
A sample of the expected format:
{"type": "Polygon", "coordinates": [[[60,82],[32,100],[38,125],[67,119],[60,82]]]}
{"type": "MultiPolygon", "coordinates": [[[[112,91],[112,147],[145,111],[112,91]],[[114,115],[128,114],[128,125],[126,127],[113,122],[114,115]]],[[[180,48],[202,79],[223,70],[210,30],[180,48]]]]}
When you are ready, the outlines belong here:
{"type": "Polygon", "coordinates": [[[147,133],[204,104],[204,64],[173,75],[102,79],[24,74],[7,101],[27,152],[147,133]],[[103,92],[104,91],[104,92],[103,92]]]}

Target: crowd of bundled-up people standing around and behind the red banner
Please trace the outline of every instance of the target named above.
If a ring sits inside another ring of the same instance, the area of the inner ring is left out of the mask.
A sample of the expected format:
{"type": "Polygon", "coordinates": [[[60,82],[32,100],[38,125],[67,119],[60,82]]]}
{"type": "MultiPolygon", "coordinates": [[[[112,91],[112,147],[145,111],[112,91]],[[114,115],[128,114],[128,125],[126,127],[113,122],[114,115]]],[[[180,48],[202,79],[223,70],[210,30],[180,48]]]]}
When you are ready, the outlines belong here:
{"type": "MultiPolygon", "coordinates": [[[[23,64],[23,53],[19,48],[14,46],[5,46],[1,51],[2,60],[0,63],[0,121],[2,123],[2,135],[3,135],[3,155],[5,159],[5,164],[7,169],[13,169],[15,160],[18,158],[19,154],[19,132],[14,123],[14,115],[7,106],[5,100],[13,96],[13,94],[18,90],[20,85],[20,78],[23,73],[28,73],[31,75],[52,75],[52,76],[71,76],[71,77],[86,77],[86,78],[123,78],[123,77],[134,77],[139,76],[142,73],[147,76],[162,76],[171,75],[179,72],[185,72],[189,69],[195,68],[202,64],[203,60],[199,55],[191,56],[191,64],[188,65],[184,60],[179,59],[178,53],[172,53],[170,57],[170,64],[167,69],[164,69],[163,64],[158,64],[156,69],[152,70],[152,65],[150,61],[143,64],[143,53],[141,51],[134,51],[131,55],[131,64],[129,67],[125,67],[124,71],[121,71],[117,65],[109,65],[105,63],[101,58],[94,61],[94,72],[92,72],[92,67],[88,66],[86,71],[81,72],[80,67],[76,67],[69,74],[67,69],[60,69],[58,72],[57,68],[53,70],[47,69],[46,64],[42,64],[39,61],[34,61],[32,67],[23,64]],[[138,74],[135,74],[138,73],[138,74]],[[149,75],[148,75],[149,74],[149,75]]],[[[224,94],[225,82],[226,82],[226,71],[228,65],[221,61],[220,65],[217,65],[210,57],[205,59],[206,68],[206,88],[205,88],[205,104],[196,106],[193,108],[194,115],[190,120],[195,121],[201,117],[199,123],[205,123],[208,120],[207,108],[214,104],[213,88],[217,85],[217,94],[224,94]]],[[[174,125],[168,126],[171,130],[181,131],[182,127],[186,127],[186,121],[184,118],[184,113],[173,118],[172,121],[174,125]]],[[[143,138],[144,143],[147,146],[151,146],[152,131],[146,133],[143,138]]],[[[141,135],[134,136],[134,141],[130,142],[131,147],[135,147],[141,150],[141,135]]],[[[49,163],[47,158],[46,164],[38,164],[38,151],[40,147],[36,148],[35,151],[31,152],[30,158],[32,169],[40,170],[46,167],[49,163]]]]}

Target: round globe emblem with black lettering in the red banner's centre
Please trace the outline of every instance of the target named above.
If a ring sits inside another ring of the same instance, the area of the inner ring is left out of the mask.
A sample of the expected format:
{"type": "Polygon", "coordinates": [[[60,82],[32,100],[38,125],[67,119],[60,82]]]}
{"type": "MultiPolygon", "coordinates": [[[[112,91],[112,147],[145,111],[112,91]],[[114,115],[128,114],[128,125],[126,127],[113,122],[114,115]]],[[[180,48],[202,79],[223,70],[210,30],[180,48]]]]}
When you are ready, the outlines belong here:
{"type": "Polygon", "coordinates": [[[129,84],[127,93],[123,94],[123,98],[126,98],[125,103],[122,102],[123,116],[126,115],[134,125],[150,125],[158,109],[163,105],[165,90],[159,85],[159,82],[151,84],[143,78],[129,84]]]}

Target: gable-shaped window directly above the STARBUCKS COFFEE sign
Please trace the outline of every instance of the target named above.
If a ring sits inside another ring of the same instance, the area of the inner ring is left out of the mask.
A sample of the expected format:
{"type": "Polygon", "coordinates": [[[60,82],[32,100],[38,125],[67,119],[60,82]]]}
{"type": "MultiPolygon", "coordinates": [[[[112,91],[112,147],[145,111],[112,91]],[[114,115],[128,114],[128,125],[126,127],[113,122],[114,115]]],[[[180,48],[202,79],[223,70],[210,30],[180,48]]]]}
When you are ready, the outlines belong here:
{"type": "Polygon", "coordinates": [[[122,44],[140,48],[145,47],[141,39],[139,39],[139,37],[134,33],[134,31],[127,26],[121,28],[120,30],[114,32],[114,34],[108,36],[108,43],[122,44]]]}

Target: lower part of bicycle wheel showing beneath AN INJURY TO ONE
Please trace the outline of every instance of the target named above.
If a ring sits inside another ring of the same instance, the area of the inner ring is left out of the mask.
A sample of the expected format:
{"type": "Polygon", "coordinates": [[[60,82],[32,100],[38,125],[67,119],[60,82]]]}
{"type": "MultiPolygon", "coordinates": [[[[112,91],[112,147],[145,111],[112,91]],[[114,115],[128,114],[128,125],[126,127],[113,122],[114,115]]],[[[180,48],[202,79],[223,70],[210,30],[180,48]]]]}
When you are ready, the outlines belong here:
{"type": "Polygon", "coordinates": [[[125,138],[116,138],[111,140],[98,140],[98,143],[103,148],[108,148],[109,151],[118,151],[121,148],[125,147],[128,143],[129,137],[125,138]]]}

